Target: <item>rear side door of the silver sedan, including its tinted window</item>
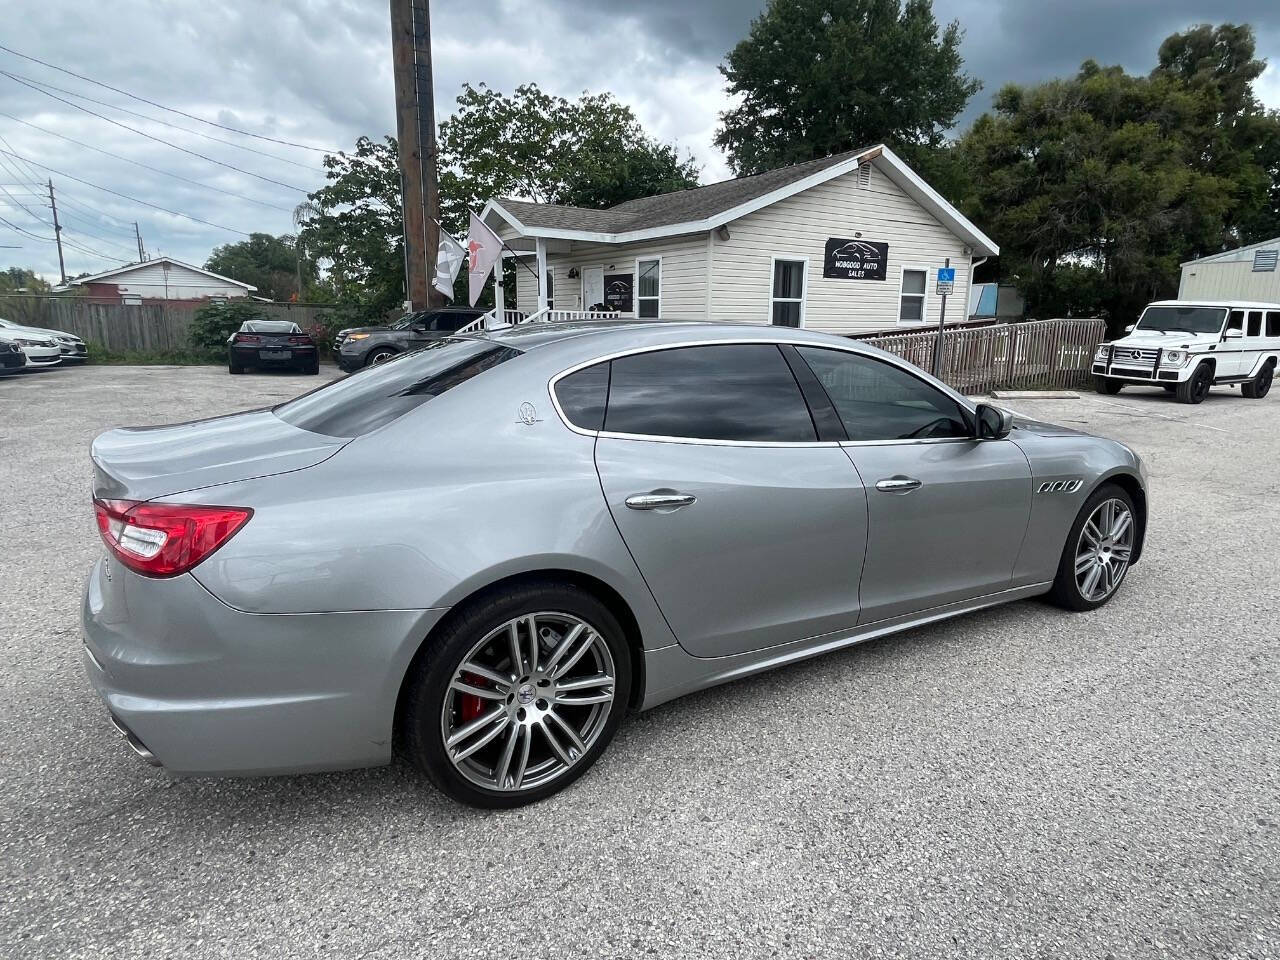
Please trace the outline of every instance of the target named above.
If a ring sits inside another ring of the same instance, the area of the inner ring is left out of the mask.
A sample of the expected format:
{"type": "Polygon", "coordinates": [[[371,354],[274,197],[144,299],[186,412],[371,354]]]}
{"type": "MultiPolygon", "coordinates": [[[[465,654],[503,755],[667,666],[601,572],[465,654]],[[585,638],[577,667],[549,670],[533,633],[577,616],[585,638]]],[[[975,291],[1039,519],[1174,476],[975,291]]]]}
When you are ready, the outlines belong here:
{"type": "Polygon", "coordinates": [[[724,657],[856,623],[867,494],[776,344],[620,357],[607,410],[572,399],[591,376],[558,399],[603,425],[609,511],[681,646],[724,657]]]}

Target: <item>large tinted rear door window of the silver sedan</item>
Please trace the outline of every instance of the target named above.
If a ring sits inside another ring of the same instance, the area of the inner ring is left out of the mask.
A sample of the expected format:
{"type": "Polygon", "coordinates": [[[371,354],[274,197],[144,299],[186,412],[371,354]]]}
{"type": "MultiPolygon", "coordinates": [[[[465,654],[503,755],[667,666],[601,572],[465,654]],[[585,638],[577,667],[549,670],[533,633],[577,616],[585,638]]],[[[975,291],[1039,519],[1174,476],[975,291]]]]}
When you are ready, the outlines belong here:
{"type": "Polygon", "coordinates": [[[613,361],[604,429],[698,440],[815,440],[804,396],[768,343],[680,347],[613,361]]]}

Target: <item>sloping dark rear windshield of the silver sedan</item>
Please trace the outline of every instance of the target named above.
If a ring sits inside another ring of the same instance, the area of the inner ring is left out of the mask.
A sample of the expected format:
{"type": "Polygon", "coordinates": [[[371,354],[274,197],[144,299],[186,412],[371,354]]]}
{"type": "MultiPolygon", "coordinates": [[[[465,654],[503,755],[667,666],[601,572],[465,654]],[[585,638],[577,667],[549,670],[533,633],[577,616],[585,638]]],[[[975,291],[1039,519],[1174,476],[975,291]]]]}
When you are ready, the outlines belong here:
{"type": "Polygon", "coordinates": [[[485,340],[433,340],[282,403],[273,412],[311,433],[360,436],[520,353],[485,340]]]}

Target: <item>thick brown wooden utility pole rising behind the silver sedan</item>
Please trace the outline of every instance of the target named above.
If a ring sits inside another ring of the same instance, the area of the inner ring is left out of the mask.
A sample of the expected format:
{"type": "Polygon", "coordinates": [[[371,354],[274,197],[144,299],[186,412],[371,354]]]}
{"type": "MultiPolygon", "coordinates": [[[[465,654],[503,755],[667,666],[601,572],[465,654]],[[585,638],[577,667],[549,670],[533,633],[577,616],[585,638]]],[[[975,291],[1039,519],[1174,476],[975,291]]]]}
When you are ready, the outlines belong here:
{"type": "Polygon", "coordinates": [[[439,248],[435,179],[435,102],[431,87],[429,0],[390,0],[396,138],[404,218],[404,292],[413,310],[440,306],[431,285],[439,248]]]}

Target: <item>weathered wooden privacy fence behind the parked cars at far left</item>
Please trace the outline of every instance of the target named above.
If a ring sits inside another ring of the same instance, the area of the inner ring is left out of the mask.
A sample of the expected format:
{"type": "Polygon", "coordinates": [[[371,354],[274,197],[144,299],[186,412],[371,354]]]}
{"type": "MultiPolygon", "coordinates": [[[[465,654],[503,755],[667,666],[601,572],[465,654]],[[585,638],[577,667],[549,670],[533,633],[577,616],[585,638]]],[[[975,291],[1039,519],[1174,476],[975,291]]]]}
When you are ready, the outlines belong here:
{"type": "MultiPolygon", "coordinates": [[[[247,301],[273,320],[292,320],[303,330],[333,307],[247,301]]],[[[83,297],[0,297],[0,317],[27,326],[65,330],[116,353],[189,349],[187,332],[204,302],[101,303],[83,297]]]]}

